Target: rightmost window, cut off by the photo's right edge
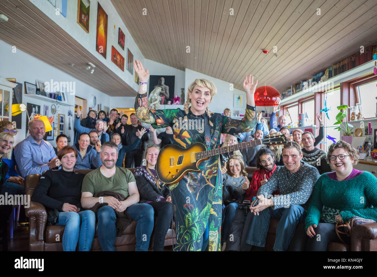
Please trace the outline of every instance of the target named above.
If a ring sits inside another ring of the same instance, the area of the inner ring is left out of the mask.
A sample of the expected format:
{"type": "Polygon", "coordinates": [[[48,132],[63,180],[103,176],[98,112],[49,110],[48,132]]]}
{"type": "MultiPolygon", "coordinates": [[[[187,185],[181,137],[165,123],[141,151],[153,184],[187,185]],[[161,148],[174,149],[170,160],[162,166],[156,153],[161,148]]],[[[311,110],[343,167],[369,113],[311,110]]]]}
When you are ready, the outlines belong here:
{"type": "Polygon", "coordinates": [[[375,116],[375,96],[377,95],[376,85],[377,81],[374,81],[356,87],[364,118],[374,118],[375,116]]]}

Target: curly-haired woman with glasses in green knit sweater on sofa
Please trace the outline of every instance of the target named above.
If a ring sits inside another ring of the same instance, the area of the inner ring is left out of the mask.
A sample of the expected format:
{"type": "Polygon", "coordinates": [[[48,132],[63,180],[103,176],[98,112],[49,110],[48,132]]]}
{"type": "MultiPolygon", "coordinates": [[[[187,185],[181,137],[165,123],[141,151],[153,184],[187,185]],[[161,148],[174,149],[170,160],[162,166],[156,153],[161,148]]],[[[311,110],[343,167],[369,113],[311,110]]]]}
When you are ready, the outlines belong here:
{"type": "MultiPolygon", "coordinates": [[[[327,161],[335,171],[322,174],[314,185],[305,219],[310,237],[308,251],[327,251],[329,242],[341,242],[335,232],[337,222],[352,216],[377,221],[377,178],[354,168],[359,152],[347,142],[338,141],[330,145],[327,161]]],[[[349,242],[347,236],[342,239],[349,242]]]]}

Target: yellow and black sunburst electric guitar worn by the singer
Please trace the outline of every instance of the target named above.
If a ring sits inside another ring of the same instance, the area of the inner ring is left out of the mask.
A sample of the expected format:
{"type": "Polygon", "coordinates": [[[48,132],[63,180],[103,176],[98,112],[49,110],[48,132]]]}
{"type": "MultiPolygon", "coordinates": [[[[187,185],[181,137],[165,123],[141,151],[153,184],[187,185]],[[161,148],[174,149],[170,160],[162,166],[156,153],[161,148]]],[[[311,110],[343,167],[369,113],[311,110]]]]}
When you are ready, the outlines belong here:
{"type": "Polygon", "coordinates": [[[176,144],[164,146],[158,153],[156,162],[157,176],[167,185],[179,182],[187,172],[199,172],[198,165],[211,156],[228,153],[231,151],[241,150],[256,145],[265,144],[268,146],[287,144],[284,135],[273,136],[265,139],[256,139],[254,141],[241,142],[228,147],[215,148],[207,150],[204,144],[196,142],[189,148],[182,148],[176,144]]]}

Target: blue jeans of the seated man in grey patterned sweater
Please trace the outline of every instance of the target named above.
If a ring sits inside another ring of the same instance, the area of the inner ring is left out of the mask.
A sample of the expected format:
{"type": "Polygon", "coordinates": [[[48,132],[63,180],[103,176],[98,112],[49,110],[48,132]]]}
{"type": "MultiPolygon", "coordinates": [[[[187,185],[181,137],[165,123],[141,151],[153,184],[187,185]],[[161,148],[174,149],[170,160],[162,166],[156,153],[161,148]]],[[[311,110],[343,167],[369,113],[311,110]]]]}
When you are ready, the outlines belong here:
{"type": "Polygon", "coordinates": [[[254,216],[251,223],[246,242],[251,245],[264,247],[270,218],[279,218],[276,228],[274,250],[286,251],[290,245],[294,231],[299,223],[305,218],[306,211],[300,205],[289,206],[289,208],[279,208],[274,210],[271,207],[259,212],[259,216],[254,216]]]}

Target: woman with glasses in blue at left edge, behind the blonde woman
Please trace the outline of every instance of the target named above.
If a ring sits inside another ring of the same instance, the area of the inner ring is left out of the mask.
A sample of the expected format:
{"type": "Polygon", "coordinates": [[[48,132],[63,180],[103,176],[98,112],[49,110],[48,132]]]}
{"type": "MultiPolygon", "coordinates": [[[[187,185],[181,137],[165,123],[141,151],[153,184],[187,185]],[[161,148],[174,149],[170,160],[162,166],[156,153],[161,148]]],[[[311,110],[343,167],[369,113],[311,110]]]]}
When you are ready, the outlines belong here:
{"type": "MultiPolygon", "coordinates": [[[[13,127],[12,122],[4,120],[0,121],[0,133],[7,132],[14,136],[17,134],[18,130],[13,127]]],[[[1,190],[1,194],[4,195],[5,192],[8,195],[12,194],[24,194],[24,178],[22,178],[16,171],[16,160],[14,158],[14,151],[9,158],[3,159],[3,162],[8,164],[8,171],[6,176],[4,176],[4,184],[1,190]]]]}

